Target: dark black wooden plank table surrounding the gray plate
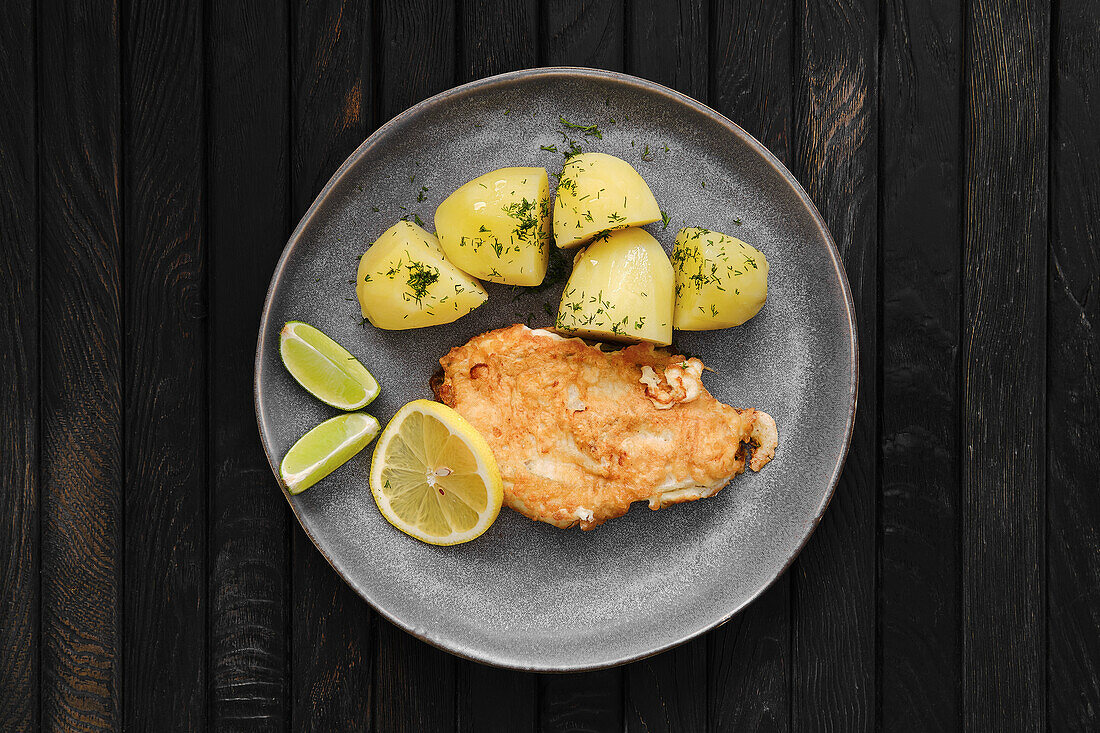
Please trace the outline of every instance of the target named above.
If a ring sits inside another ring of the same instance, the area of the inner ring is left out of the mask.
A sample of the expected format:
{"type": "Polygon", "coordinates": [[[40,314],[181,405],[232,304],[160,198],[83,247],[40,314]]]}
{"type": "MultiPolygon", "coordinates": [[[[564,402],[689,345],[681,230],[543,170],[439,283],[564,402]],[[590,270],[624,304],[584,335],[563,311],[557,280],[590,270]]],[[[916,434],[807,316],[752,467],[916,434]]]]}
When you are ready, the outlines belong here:
{"type": "Polygon", "coordinates": [[[4,0],[0,729],[1100,729],[1100,2],[4,0]],[[287,234],[381,122],[584,65],[782,158],[860,329],[793,568],[619,669],[466,663],[287,510],[252,359],[287,234]]]}

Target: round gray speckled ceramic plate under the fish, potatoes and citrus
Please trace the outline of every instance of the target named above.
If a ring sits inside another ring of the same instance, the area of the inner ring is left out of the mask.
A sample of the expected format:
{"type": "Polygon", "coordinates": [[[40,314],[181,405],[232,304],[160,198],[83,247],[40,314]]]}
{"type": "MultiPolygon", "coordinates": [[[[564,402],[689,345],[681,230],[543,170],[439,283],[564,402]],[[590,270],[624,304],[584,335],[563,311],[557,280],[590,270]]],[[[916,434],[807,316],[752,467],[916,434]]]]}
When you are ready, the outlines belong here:
{"type": "Polygon", "coordinates": [[[648,227],[666,247],[680,227],[698,225],[767,254],[759,316],[740,328],[678,332],[675,344],[714,368],[706,380],[718,400],[776,417],[776,459],[714,499],[660,512],[638,504],[592,532],[505,508],[485,535],[457,547],[421,544],[382,518],[366,479],[373,446],[289,497],[332,567],[391,621],[463,657],[549,671],[622,664],[717,626],[787,568],[828,503],[856,402],[851,298],[821,216],[779,161],[717,112],[622,74],[535,69],[432,97],[371,135],[294,231],[267,293],[255,378],[260,431],[277,470],[294,441],[334,413],[279,362],[285,321],[312,324],[360,357],[383,385],[369,407],[383,425],[406,402],[431,396],[428,381],[451,347],[517,321],[549,325],[543,306],[557,307],[561,283],[491,286],[488,303],[454,324],[382,331],[360,325],[349,281],[395,220],[415,214],[430,229],[436,206],[470,178],[509,165],[559,172],[562,155],[540,146],[566,146],[562,133],[638,168],[671,217],[667,230],[648,227]],[[559,117],[597,123],[603,139],[559,117]]]}

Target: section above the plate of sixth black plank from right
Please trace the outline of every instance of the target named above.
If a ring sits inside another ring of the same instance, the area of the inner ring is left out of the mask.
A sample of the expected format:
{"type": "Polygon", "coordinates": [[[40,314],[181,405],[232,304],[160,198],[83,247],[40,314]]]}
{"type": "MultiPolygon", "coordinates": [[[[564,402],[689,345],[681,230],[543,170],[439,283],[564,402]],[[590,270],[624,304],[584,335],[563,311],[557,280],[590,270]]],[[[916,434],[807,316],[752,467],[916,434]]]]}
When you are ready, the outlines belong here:
{"type": "Polygon", "coordinates": [[[626,70],[706,101],[710,4],[636,0],[626,9],[626,70]]]}

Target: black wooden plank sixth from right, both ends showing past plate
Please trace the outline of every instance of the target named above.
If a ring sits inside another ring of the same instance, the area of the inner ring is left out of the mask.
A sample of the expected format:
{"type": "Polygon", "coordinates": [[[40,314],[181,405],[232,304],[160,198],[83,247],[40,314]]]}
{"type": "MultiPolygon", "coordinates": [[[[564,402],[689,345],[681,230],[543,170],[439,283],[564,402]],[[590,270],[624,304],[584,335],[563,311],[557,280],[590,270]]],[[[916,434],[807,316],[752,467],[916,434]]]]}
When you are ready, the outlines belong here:
{"type": "MultiPolygon", "coordinates": [[[[627,4],[626,70],[706,101],[707,7],[701,0],[627,4]]],[[[705,638],[624,668],[630,731],[698,731],[706,725],[705,638]]]]}

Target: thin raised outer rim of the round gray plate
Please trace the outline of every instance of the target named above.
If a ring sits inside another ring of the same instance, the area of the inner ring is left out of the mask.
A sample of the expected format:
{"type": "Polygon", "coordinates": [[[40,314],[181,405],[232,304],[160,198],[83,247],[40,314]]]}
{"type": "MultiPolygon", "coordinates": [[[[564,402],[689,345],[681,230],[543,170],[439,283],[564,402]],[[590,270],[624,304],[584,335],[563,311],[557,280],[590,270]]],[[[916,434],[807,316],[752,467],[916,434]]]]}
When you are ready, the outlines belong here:
{"type": "Polygon", "coordinates": [[[461,84],[439,94],[432,95],[427,99],[424,99],[416,105],[413,105],[405,111],[393,117],[384,124],[380,125],[374,132],[372,132],[367,138],[360,143],[360,145],[344,160],[343,163],[336,169],[332,176],[328,179],[321,190],[314,198],[309,208],[302,215],[301,219],[298,221],[294,231],[290,232],[286,244],[283,247],[283,252],[279,255],[278,262],[275,264],[275,270],[272,273],[271,282],[267,285],[267,292],[264,295],[264,307],[260,316],[260,330],[256,337],[256,352],[255,359],[253,361],[253,379],[252,379],[252,398],[253,407],[256,414],[256,427],[260,433],[260,444],[263,447],[264,455],[267,458],[268,468],[271,468],[272,473],[276,479],[276,485],[286,500],[287,504],[290,506],[290,511],[294,513],[295,518],[298,522],[298,526],[301,527],[302,532],[312,543],[314,547],[321,557],[332,567],[336,573],[343,580],[355,594],[359,595],[363,601],[369,603],[371,608],[384,619],[398,626],[403,631],[411,634],[416,638],[435,646],[436,648],[443,649],[450,654],[453,654],[463,659],[471,661],[476,661],[480,664],[492,665],[495,667],[501,667],[505,669],[514,669],[517,671],[529,671],[529,672],[554,672],[554,674],[569,674],[569,672],[580,672],[580,671],[595,671],[600,669],[608,669],[612,667],[618,667],[620,665],[629,664],[631,661],[638,661],[639,659],[646,659],[648,657],[661,654],[674,647],[686,644],[688,642],[696,638],[707,632],[714,631],[715,628],[727,623],[730,619],[736,616],[743,610],[745,610],[749,604],[756,601],[760,595],[762,595],[769,588],[771,588],[780,577],[785,573],[791,565],[794,562],[795,558],[802,553],[810,538],[813,536],[817,526],[821,524],[822,517],[825,515],[825,511],[828,508],[833,496],[836,494],[837,484],[840,480],[840,473],[844,470],[845,461],[848,457],[848,450],[851,446],[851,436],[855,428],[856,411],[859,402],[859,337],[857,332],[857,322],[855,318],[855,302],[851,295],[851,287],[848,283],[847,271],[844,266],[844,261],[840,258],[840,253],[836,248],[836,242],[833,240],[833,234],[828,230],[828,226],[825,223],[824,217],[822,217],[821,211],[818,211],[817,206],[810,198],[810,194],[803,188],[799,179],[795,178],[794,174],[787,168],[783,163],[776,157],[776,155],[768,150],[759,140],[752,136],[739,124],[727,118],[722,112],[713,109],[712,107],[704,105],[703,102],[684,95],[683,92],[676,91],[670,87],[667,87],[657,81],[651,81],[649,79],[644,79],[630,74],[624,74],[622,72],[609,72],[605,69],[588,68],[582,66],[541,66],[532,68],[517,69],[514,72],[506,72],[504,74],[497,74],[494,76],[484,77],[482,79],[476,79],[474,81],[469,81],[466,84],[461,84]],[[268,447],[268,439],[266,437],[266,424],[267,416],[264,413],[263,406],[261,404],[261,381],[260,372],[261,364],[263,361],[264,350],[266,348],[266,342],[268,338],[268,329],[271,328],[271,310],[272,310],[272,296],[275,288],[278,286],[283,278],[284,271],[286,270],[286,263],[289,260],[290,253],[295,247],[299,243],[302,232],[312,221],[318,209],[321,207],[323,201],[328,198],[331,190],[343,179],[348,171],[356,163],[361,157],[363,157],[372,147],[377,145],[381,140],[389,133],[394,128],[399,127],[403,122],[419,116],[422,111],[430,107],[433,107],[451,97],[465,95],[474,90],[491,88],[495,86],[506,86],[517,80],[522,80],[534,77],[564,77],[564,78],[596,78],[601,80],[613,81],[618,85],[634,87],[636,89],[641,89],[651,94],[661,95],[668,97],[675,102],[684,105],[692,108],[696,112],[711,118],[713,121],[717,122],[723,128],[727,129],[732,134],[739,138],[743,142],[748,144],[754,151],[760,155],[776,172],[791,186],[795,196],[802,201],[803,206],[810,212],[811,218],[816,225],[817,229],[821,231],[824,240],[826,250],[831,262],[833,263],[834,271],[840,283],[840,291],[844,295],[844,315],[848,321],[848,333],[849,333],[849,353],[851,354],[851,379],[849,380],[848,393],[848,415],[845,425],[845,438],[842,445],[840,451],[837,456],[836,464],[833,467],[833,472],[828,480],[828,489],[822,496],[818,505],[815,510],[815,514],[811,521],[807,522],[805,532],[800,539],[798,546],[791,553],[791,555],[784,560],[782,567],[780,567],[774,575],[771,576],[765,583],[762,583],[755,592],[749,594],[740,604],[725,612],[725,614],[716,622],[704,625],[694,632],[683,635],[680,638],[673,639],[667,644],[663,644],[657,648],[648,649],[645,652],[639,652],[637,654],[630,654],[626,656],[620,656],[606,661],[592,663],[592,664],[578,664],[578,665],[540,665],[537,663],[528,665],[517,665],[507,660],[495,659],[492,656],[479,655],[472,649],[454,647],[443,644],[440,641],[431,638],[428,635],[427,630],[421,630],[410,624],[397,615],[391,613],[385,608],[382,608],[375,602],[373,598],[366,592],[366,589],[359,588],[341,569],[340,564],[324,550],[323,547],[318,543],[317,538],[314,536],[312,532],[306,526],[302,521],[301,513],[295,505],[292,496],[278,482],[278,470],[279,460],[274,457],[268,447]]]}

